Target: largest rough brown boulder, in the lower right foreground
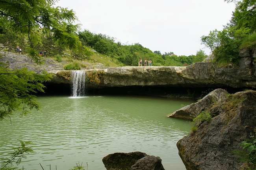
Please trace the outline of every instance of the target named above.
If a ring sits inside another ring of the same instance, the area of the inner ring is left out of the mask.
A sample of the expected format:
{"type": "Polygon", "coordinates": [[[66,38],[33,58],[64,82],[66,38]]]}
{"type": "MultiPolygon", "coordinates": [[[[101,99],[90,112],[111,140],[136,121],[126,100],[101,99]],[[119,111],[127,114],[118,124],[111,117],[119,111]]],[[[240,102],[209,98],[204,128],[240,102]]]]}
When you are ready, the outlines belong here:
{"type": "Polygon", "coordinates": [[[187,170],[240,170],[243,162],[234,154],[256,132],[256,91],[230,94],[212,103],[210,122],[177,143],[187,170]]]}

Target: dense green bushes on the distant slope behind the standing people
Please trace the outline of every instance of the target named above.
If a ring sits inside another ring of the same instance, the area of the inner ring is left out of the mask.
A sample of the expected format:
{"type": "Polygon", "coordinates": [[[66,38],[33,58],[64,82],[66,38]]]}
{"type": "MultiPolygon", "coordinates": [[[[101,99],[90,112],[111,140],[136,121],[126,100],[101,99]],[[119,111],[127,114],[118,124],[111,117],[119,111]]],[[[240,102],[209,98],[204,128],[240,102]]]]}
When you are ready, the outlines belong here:
{"type": "Polygon", "coordinates": [[[173,52],[161,54],[160,51],[152,52],[150,49],[136,43],[133,45],[122,45],[115,42],[115,38],[102,34],[93,34],[88,30],[78,33],[78,36],[84,46],[90,46],[96,51],[116,58],[128,66],[137,66],[141,59],[152,60],[153,66],[184,66],[193,62],[203,61],[207,55],[199,50],[197,55],[176,56],[173,52]]]}

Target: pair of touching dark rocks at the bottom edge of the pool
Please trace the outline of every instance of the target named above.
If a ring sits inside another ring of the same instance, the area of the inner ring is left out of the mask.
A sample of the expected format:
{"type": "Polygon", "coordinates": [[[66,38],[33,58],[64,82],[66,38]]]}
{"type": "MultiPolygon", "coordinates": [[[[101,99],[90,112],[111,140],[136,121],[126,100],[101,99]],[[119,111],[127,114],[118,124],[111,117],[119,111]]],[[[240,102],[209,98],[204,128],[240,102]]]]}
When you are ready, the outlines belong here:
{"type": "Polygon", "coordinates": [[[161,161],[143,152],[114,153],[102,159],[107,170],[164,170],[161,161]]]}

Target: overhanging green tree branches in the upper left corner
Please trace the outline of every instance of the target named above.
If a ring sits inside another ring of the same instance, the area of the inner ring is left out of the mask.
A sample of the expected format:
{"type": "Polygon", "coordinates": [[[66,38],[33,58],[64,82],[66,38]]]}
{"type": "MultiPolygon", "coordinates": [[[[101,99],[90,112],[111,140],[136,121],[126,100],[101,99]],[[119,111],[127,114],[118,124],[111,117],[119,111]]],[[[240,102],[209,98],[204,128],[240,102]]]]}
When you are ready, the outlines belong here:
{"type": "Polygon", "coordinates": [[[78,25],[73,10],[53,7],[56,0],[0,0],[1,27],[26,33],[33,48],[37,44],[37,32],[51,32],[59,44],[73,49],[79,45],[76,35],[78,25]],[[4,25],[3,25],[4,24],[4,25]]]}

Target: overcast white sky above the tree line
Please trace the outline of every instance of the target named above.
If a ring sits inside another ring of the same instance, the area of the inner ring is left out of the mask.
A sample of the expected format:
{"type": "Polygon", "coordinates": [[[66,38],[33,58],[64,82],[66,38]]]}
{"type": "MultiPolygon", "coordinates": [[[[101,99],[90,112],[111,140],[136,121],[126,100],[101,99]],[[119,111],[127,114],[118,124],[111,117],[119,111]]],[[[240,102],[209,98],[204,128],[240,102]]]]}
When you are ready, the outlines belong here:
{"type": "Polygon", "coordinates": [[[176,55],[198,49],[209,54],[200,37],[222,29],[235,8],[224,0],[59,0],[56,5],[74,9],[82,30],[176,55]]]}

